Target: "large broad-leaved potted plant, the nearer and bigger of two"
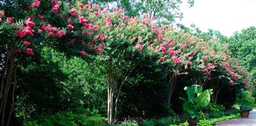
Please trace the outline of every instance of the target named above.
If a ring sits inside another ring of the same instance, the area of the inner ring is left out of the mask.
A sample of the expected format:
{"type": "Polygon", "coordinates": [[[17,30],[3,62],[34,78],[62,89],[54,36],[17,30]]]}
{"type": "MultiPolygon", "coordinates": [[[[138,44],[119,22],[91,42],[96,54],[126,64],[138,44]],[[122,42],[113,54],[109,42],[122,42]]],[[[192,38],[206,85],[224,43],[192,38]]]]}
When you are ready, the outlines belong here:
{"type": "Polygon", "coordinates": [[[211,100],[212,89],[204,90],[199,85],[185,87],[188,99],[181,98],[184,101],[183,109],[189,116],[189,126],[196,126],[197,118],[202,109],[204,109],[211,100]]]}

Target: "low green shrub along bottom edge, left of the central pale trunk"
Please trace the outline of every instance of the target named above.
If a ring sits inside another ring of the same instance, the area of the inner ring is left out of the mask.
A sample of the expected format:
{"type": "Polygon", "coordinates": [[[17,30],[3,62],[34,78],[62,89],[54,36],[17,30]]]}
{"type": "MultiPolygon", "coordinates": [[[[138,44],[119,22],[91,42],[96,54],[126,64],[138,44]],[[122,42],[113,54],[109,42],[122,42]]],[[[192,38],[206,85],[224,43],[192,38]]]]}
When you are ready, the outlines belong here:
{"type": "Polygon", "coordinates": [[[98,115],[97,110],[92,112],[89,109],[76,109],[65,113],[55,113],[54,115],[36,115],[31,120],[26,120],[24,126],[42,125],[42,126],[98,126],[105,125],[105,119],[98,115]]]}

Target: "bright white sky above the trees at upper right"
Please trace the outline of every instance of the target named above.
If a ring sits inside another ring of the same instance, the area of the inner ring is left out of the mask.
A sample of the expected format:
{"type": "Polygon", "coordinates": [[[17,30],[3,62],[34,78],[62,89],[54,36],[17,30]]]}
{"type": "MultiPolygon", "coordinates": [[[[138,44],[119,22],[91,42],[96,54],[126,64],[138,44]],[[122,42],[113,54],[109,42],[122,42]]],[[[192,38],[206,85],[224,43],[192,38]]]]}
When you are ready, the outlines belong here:
{"type": "Polygon", "coordinates": [[[178,22],[186,27],[195,24],[202,31],[214,29],[225,36],[256,27],[256,0],[195,0],[191,8],[182,4],[181,11],[184,18],[178,22]]]}

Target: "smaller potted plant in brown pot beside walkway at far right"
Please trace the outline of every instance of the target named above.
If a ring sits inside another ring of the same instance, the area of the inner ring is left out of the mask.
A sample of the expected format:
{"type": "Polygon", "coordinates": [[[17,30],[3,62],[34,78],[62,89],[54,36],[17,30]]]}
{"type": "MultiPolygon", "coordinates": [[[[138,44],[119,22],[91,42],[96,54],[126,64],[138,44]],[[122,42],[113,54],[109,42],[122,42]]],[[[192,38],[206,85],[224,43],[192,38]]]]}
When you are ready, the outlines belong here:
{"type": "Polygon", "coordinates": [[[238,95],[237,97],[237,102],[240,105],[241,117],[248,118],[255,102],[255,97],[252,97],[252,92],[242,90],[241,95],[238,95]]]}

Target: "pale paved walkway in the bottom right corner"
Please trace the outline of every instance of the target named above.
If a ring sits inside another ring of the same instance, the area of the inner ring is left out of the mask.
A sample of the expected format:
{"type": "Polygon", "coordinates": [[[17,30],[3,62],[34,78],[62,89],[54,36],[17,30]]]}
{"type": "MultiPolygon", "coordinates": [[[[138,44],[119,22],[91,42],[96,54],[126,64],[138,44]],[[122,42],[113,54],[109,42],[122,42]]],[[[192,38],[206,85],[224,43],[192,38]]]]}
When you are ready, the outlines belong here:
{"type": "Polygon", "coordinates": [[[256,109],[250,112],[249,118],[234,118],[223,122],[217,122],[216,125],[255,125],[256,126],[256,109]]]}

